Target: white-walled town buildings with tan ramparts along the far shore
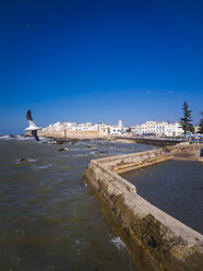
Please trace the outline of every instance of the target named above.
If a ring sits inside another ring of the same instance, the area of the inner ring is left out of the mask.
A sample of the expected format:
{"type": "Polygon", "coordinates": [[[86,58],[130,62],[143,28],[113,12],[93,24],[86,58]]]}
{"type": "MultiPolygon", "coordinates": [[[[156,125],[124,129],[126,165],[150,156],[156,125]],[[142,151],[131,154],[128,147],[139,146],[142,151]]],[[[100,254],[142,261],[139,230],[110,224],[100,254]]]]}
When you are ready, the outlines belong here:
{"type": "MultiPolygon", "coordinates": [[[[199,127],[194,127],[194,131],[199,131],[199,127]]],[[[167,121],[146,121],[141,125],[126,126],[122,120],[119,119],[117,125],[109,125],[105,122],[55,122],[48,127],[44,127],[39,134],[41,137],[57,137],[57,138],[107,138],[109,136],[154,136],[154,137],[183,137],[183,129],[181,123],[175,121],[169,123],[167,121]]]]}

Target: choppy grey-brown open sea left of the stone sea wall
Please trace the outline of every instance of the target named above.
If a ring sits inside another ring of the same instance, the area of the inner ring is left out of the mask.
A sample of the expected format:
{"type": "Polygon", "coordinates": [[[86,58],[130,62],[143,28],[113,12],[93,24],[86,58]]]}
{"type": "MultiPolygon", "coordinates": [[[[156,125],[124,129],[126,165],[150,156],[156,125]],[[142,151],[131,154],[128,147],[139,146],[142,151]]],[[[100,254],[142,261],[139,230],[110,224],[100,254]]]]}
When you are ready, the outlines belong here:
{"type": "Polygon", "coordinates": [[[82,174],[93,158],[150,149],[109,141],[52,145],[1,138],[0,270],[133,271],[82,174]],[[59,152],[61,148],[65,151],[59,152]]]}

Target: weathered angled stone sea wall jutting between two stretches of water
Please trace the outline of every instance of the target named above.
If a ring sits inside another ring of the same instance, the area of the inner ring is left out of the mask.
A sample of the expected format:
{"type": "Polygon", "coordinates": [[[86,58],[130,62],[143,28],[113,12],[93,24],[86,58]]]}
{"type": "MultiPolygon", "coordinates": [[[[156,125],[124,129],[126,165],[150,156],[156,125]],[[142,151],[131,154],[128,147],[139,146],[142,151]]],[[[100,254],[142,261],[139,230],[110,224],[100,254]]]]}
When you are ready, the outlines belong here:
{"type": "Polygon", "coordinates": [[[162,149],[105,157],[91,161],[83,174],[139,270],[191,271],[203,267],[203,236],[152,205],[118,175],[171,157],[162,149]]]}

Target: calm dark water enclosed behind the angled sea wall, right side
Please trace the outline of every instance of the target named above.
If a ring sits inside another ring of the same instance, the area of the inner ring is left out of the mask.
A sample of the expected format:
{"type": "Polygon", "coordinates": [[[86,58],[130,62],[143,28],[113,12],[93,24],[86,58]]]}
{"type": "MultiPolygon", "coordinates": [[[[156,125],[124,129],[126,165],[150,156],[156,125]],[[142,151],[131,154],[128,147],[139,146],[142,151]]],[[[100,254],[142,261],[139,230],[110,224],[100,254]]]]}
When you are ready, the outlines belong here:
{"type": "Polygon", "coordinates": [[[203,164],[167,161],[122,175],[138,193],[203,234],[203,164]]]}

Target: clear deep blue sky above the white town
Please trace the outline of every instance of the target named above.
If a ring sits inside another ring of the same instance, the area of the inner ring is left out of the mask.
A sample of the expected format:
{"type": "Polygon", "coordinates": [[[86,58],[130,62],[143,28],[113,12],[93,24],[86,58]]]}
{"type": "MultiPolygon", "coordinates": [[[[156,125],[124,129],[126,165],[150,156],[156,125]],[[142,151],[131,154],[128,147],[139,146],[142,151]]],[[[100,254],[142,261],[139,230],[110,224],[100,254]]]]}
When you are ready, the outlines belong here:
{"type": "Polygon", "coordinates": [[[1,0],[0,133],[203,110],[203,1],[1,0]]]}

